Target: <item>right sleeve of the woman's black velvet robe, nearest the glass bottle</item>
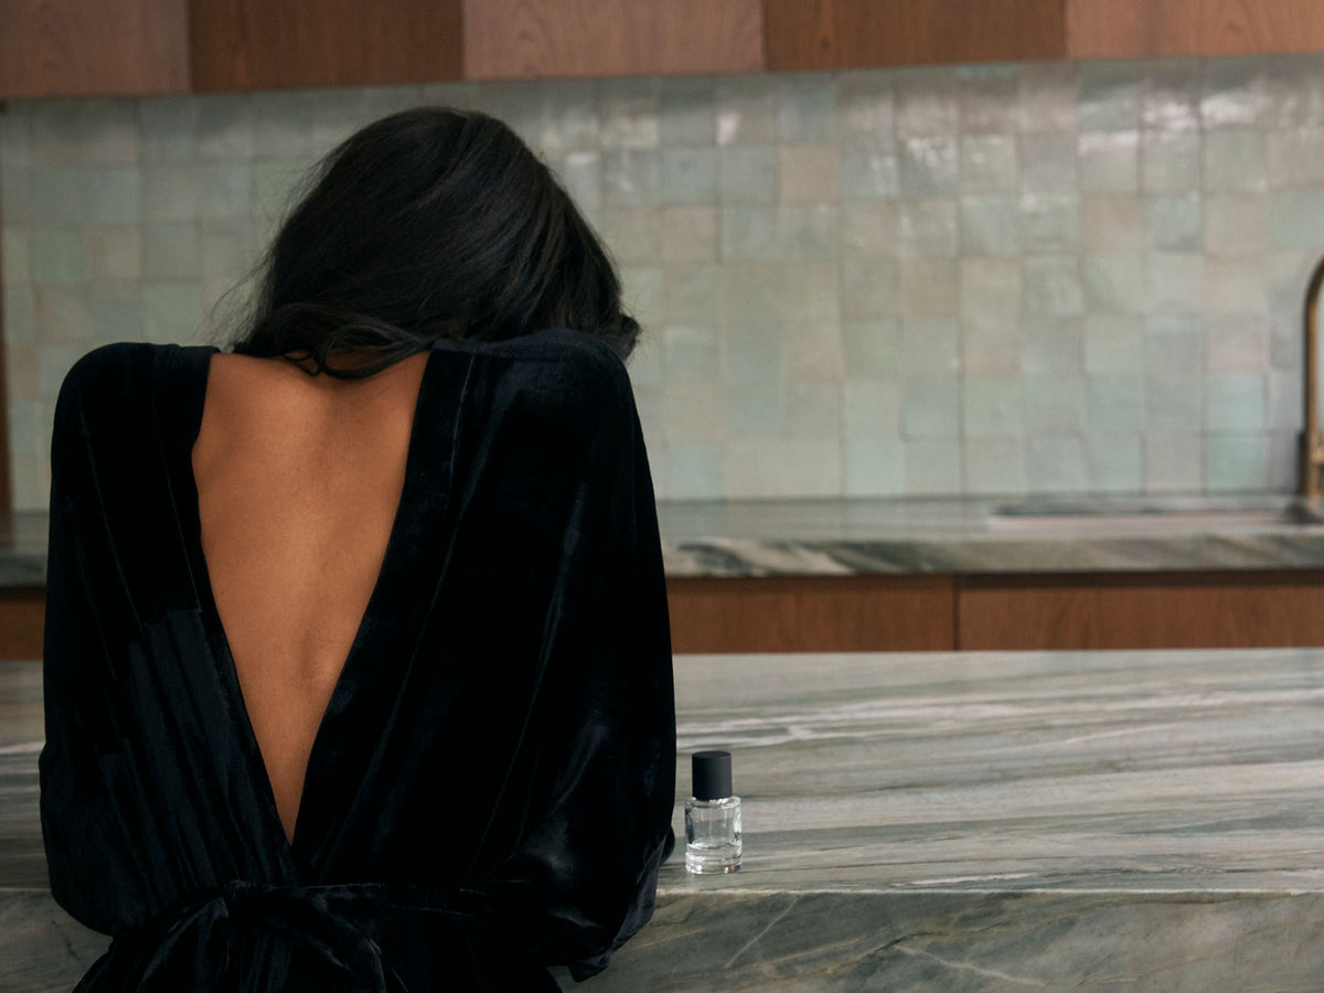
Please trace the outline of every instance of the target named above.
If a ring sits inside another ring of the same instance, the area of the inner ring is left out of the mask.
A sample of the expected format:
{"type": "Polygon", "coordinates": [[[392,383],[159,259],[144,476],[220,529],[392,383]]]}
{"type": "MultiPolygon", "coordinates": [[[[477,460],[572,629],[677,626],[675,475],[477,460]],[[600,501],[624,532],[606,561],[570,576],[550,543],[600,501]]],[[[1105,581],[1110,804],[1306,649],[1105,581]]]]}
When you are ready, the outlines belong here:
{"type": "Polygon", "coordinates": [[[675,838],[675,700],[657,507],[630,383],[598,343],[560,433],[583,438],[538,688],[494,821],[518,825],[486,882],[535,960],[576,980],[651,916],[675,838]],[[504,809],[502,809],[504,808],[504,809]]]}

